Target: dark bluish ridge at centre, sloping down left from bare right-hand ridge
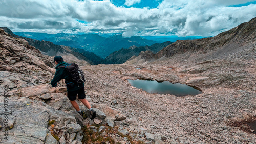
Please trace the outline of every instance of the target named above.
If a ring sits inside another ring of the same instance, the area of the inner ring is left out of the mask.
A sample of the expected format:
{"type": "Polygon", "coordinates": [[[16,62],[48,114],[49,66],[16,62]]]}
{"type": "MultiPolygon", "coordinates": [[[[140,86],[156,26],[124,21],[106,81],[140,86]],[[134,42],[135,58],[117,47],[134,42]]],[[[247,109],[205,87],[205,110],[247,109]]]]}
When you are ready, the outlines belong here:
{"type": "Polygon", "coordinates": [[[130,59],[133,56],[138,56],[141,51],[152,51],[157,53],[158,51],[162,50],[167,45],[172,44],[172,42],[163,42],[163,43],[156,43],[151,46],[131,46],[129,49],[120,49],[111,53],[108,57],[106,57],[103,61],[104,64],[121,64],[124,63],[126,60],[130,59]]]}

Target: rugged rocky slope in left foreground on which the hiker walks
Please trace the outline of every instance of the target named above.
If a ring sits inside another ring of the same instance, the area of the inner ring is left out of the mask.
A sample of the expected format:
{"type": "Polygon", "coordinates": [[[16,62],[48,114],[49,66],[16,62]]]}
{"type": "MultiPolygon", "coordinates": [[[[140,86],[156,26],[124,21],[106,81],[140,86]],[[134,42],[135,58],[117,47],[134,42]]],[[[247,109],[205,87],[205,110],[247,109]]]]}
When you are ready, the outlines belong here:
{"type": "MultiPolygon", "coordinates": [[[[52,58],[41,54],[26,40],[12,37],[0,29],[0,52],[0,109],[4,112],[0,114],[1,143],[135,140],[127,135],[126,128],[114,127],[115,123],[123,123],[126,119],[121,111],[93,103],[89,95],[87,100],[97,111],[97,118],[90,121],[86,115],[82,117],[76,113],[67,98],[63,81],[55,88],[49,84],[55,73],[52,58]]],[[[78,104],[89,112],[80,102],[78,104]]]]}

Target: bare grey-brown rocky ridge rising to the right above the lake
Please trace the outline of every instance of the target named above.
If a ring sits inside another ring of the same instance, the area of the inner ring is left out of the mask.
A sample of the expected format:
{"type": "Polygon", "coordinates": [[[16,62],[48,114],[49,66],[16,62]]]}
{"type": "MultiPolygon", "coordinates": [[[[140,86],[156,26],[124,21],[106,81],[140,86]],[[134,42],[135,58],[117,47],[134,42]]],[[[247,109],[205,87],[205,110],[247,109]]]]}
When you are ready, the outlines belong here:
{"type": "MultiPolygon", "coordinates": [[[[215,37],[177,40],[176,42],[164,47],[156,54],[149,52],[141,53],[137,61],[141,58],[147,60],[157,60],[162,57],[173,57],[184,55],[184,59],[216,59],[225,58],[226,55],[236,54],[242,51],[242,47],[253,46],[255,44],[256,18],[249,22],[240,24],[228,31],[222,32],[215,37]],[[197,57],[193,54],[197,53],[197,57]],[[147,55],[148,54],[148,55],[147,55]]],[[[133,63],[136,60],[133,59],[133,63]]]]}

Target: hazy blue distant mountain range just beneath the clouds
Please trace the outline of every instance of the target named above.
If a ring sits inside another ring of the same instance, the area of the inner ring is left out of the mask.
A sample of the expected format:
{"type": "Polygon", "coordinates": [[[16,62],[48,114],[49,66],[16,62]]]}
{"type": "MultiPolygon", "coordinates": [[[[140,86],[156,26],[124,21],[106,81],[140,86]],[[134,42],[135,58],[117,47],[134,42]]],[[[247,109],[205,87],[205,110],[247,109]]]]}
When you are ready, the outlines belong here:
{"type": "Polygon", "coordinates": [[[154,40],[147,40],[140,36],[132,36],[130,38],[122,35],[114,35],[110,37],[103,37],[98,34],[45,34],[45,33],[31,33],[31,32],[15,32],[14,34],[29,37],[36,40],[51,41],[57,45],[65,45],[84,49],[86,51],[94,52],[96,55],[105,58],[114,51],[122,48],[129,48],[130,46],[146,46],[157,43],[154,40]]]}

